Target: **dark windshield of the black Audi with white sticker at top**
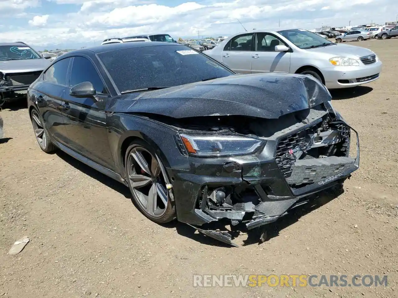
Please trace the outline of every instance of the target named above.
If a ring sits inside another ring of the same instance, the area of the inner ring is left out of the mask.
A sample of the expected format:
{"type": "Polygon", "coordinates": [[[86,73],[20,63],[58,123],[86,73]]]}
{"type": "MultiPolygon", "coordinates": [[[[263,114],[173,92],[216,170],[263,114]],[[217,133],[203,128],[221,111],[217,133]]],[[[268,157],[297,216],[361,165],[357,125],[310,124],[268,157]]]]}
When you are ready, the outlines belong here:
{"type": "Polygon", "coordinates": [[[98,57],[120,92],[174,87],[234,74],[183,45],[122,48],[100,53],[98,57]]]}

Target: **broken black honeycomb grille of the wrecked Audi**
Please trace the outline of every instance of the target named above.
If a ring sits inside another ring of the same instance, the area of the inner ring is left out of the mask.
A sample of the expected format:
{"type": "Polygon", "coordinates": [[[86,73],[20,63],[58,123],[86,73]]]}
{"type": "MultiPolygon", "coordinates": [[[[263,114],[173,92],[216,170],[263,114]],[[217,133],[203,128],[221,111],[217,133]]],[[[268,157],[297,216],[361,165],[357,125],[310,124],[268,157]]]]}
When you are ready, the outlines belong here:
{"type": "MultiPolygon", "coordinates": [[[[323,122],[315,124],[305,130],[297,132],[293,135],[286,136],[279,140],[276,153],[275,161],[281,170],[285,178],[289,178],[292,174],[292,166],[296,163],[296,157],[291,154],[296,149],[301,149],[303,152],[307,151],[307,146],[310,141],[310,134],[317,132],[318,128],[326,125],[330,125],[330,119],[326,118],[323,122]],[[290,152],[289,152],[290,151],[290,152]]],[[[341,147],[339,148],[338,155],[348,156],[349,153],[349,140],[350,140],[350,128],[345,124],[333,124],[333,128],[339,130],[341,137],[341,147]]],[[[337,152],[336,152],[337,153],[337,152]]],[[[304,155],[303,159],[313,159],[310,155],[304,155]]]]}

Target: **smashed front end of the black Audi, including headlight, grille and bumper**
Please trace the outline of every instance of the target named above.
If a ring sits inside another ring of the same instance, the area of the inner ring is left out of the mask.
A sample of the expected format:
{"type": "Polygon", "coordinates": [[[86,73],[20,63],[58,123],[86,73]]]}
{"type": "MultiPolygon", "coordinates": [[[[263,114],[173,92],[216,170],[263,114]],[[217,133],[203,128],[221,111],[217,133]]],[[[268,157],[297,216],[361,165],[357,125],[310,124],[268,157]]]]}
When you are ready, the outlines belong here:
{"type": "Polygon", "coordinates": [[[179,127],[176,142],[188,157],[191,174],[170,171],[179,177],[175,183],[181,182],[185,190],[191,188],[187,193],[196,195],[191,213],[178,214],[178,218],[231,245],[235,244],[230,233],[199,226],[227,221],[231,229],[238,224],[244,224],[247,230],[263,228],[320,192],[341,188],[359,168],[358,134],[329,103],[285,114],[277,120],[234,117],[231,122],[222,116],[199,117],[175,122],[174,126],[179,127]],[[213,132],[215,143],[203,144],[202,139],[190,137],[198,131],[213,132]],[[349,155],[351,131],[357,141],[356,157],[349,155]],[[253,141],[243,144],[240,154],[223,156],[222,149],[228,151],[231,146],[217,140],[220,135],[233,133],[259,140],[260,145],[256,147],[253,141]],[[256,150],[242,153],[250,145],[256,150]],[[197,149],[221,154],[203,159],[191,154],[197,149]]]}

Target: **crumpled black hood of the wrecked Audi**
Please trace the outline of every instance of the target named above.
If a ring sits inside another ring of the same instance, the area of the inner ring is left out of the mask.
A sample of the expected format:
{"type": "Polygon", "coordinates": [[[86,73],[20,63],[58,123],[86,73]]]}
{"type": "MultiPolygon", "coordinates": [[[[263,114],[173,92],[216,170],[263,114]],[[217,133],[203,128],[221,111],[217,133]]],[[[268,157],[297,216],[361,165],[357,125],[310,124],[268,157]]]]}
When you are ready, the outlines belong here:
{"type": "Polygon", "coordinates": [[[308,75],[230,75],[167,89],[130,93],[107,104],[109,112],[151,113],[173,118],[242,115],[279,118],[332,99],[308,75]]]}

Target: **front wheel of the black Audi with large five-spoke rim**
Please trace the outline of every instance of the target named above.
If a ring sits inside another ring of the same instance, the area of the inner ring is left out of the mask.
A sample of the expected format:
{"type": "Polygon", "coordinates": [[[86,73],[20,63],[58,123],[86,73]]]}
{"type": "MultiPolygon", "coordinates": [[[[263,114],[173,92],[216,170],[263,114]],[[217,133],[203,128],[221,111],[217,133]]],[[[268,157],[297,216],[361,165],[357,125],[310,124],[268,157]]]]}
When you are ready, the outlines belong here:
{"type": "Polygon", "coordinates": [[[158,156],[145,147],[136,143],[127,149],[125,165],[129,188],[146,217],[156,223],[167,223],[176,215],[167,189],[170,181],[158,156]]]}

